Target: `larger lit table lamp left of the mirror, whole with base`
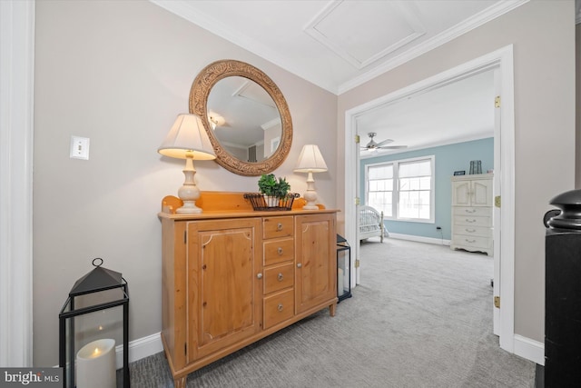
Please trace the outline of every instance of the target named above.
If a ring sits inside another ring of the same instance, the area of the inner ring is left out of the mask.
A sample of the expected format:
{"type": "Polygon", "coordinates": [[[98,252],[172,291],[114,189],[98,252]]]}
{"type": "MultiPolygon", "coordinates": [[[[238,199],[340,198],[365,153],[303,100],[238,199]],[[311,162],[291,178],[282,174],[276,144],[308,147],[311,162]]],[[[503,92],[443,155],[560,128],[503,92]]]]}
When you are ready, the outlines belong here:
{"type": "Polygon", "coordinates": [[[157,152],[164,156],[185,159],[183,169],[185,181],[178,190],[183,206],[178,208],[176,213],[202,213],[202,209],[196,206],[196,200],[200,198],[200,189],[194,180],[196,170],[193,168],[193,161],[216,158],[202,119],[195,114],[178,114],[170,133],[167,134],[157,152]]]}

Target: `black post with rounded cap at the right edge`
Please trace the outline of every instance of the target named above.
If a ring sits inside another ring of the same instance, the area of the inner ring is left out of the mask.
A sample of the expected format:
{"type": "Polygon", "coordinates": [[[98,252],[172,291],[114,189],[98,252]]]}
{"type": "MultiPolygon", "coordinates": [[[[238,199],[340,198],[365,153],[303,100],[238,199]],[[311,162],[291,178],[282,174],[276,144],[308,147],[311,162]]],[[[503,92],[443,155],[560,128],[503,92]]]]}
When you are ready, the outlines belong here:
{"type": "Polygon", "coordinates": [[[545,387],[581,387],[581,190],[545,214],[545,387]]]}

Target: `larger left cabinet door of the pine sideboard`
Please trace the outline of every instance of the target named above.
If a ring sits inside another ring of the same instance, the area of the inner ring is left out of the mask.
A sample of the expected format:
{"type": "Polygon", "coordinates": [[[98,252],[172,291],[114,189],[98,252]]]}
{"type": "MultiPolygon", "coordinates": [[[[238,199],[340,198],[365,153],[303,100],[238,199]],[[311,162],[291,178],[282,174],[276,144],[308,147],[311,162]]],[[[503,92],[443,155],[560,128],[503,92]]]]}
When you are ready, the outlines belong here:
{"type": "Polygon", "coordinates": [[[188,223],[189,361],[262,329],[261,219],[188,223]]]}

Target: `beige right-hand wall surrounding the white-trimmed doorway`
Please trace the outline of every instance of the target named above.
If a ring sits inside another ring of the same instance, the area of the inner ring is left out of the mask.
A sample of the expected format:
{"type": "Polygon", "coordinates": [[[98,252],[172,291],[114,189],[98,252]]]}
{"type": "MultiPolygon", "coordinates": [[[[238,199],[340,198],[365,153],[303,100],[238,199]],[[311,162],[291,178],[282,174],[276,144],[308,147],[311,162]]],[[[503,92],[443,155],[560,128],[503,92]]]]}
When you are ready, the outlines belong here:
{"type": "MultiPolygon", "coordinates": [[[[544,342],[545,228],[541,220],[548,201],[575,184],[572,0],[532,0],[340,95],[338,149],[344,150],[346,110],[511,44],[516,121],[515,333],[544,342]]],[[[342,176],[342,164],[338,168],[342,176]]],[[[343,184],[337,186],[340,204],[343,184]]]]}

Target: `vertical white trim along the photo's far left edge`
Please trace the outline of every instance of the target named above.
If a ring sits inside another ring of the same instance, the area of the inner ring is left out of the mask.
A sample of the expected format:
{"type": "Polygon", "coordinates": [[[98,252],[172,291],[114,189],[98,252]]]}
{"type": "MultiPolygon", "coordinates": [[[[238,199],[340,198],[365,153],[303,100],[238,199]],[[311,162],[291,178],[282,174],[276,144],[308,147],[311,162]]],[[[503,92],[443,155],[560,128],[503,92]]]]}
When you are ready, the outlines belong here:
{"type": "Polygon", "coordinates": [[[34,1],[0,1],[0,365],[33,364],[34,1]]]}

